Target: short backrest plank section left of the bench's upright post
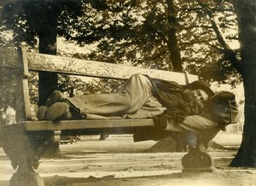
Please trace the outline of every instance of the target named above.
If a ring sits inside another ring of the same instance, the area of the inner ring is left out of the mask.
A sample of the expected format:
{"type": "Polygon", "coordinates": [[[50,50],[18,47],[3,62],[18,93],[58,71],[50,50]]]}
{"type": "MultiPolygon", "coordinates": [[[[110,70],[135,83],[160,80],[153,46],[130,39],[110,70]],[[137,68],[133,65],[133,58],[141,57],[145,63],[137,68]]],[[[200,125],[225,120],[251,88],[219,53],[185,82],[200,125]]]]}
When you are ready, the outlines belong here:
{"type": "Polygon", "coordinates": [[[20,61],[21,55],[18,50],[0,48],[0,67],[22,68],[20,61]]]}

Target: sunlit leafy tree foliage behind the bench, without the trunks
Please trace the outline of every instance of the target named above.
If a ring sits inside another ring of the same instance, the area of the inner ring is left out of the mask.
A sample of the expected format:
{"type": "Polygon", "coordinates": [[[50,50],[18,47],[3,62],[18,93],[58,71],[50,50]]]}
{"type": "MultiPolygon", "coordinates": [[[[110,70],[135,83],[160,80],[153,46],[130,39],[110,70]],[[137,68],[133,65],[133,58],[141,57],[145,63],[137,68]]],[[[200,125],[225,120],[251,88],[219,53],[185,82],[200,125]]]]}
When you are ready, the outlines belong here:
{"type": "MultiPolygon", "coordinates": [[[[212,25],[212,19],[216,20],[224,38],[237,40],[236,16],[230,3],[172,1],[175,12],[170,12],[170,4],[165,0],[17,2],[4,7],[2,26],[3,30],[12,30],[15,44],[21,41],[37,44],[44,24],[51,20],[47,13],[52,11],[58,15],[58,36],[81,46],[97,44],[96,51],[84,56],[76,54],[76,57],[173,70],[168,33],[174,28],[184,70],[207,81],[236,84],[237,79],[241,79],[212,25]],[[176,18],[177,23],[173,24],[170,17],[176,18]]],[[[239,53],[236,52],[236,56],[239,59],[239,53]]],[[[69,91],[70,96],[73,89],[79,94],[93,93],[106,86],[96,81],[97,87],[93,88],[91,82],[67,76],[59,76],[59,81],[58,89],[69,91]]],[[[32,102],[37,102],[36,78],[31,82],[32,102]]]]}

